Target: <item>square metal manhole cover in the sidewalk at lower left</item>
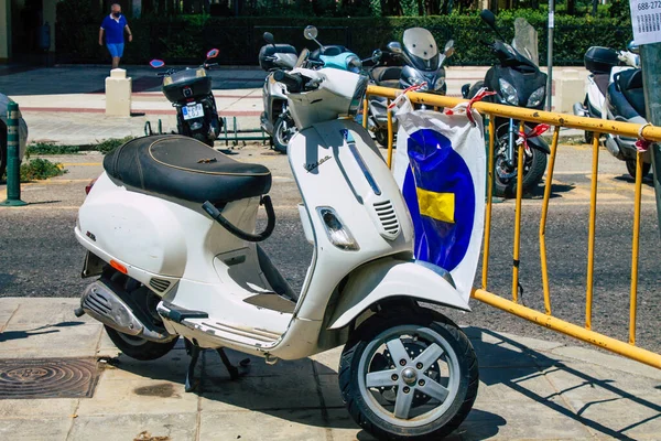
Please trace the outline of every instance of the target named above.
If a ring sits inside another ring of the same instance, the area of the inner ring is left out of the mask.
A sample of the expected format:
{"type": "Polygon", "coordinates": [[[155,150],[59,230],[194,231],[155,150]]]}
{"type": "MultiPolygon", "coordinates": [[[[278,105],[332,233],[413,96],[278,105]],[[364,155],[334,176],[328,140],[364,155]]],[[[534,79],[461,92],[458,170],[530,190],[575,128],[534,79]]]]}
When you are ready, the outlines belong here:
{"type": "Polygon", "coordinates": [[[98,375],[96,359],[0,359],[0,399],[89,398],[98,375]]]}

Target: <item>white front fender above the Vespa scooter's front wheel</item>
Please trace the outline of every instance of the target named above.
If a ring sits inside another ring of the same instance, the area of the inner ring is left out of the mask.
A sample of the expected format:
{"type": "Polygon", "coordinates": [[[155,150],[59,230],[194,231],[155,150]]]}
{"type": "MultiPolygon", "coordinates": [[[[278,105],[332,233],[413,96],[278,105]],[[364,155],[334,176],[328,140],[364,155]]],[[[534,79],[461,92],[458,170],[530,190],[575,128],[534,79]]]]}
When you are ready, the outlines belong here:
{"type": "Polygon", "coordinates": [[[344,327],[371,305],[397,297],[470,311],[468,298],[455,289],[449,272],[427,262],[389,257],[364,265],[350,275],[328,329],[344,327]]]}

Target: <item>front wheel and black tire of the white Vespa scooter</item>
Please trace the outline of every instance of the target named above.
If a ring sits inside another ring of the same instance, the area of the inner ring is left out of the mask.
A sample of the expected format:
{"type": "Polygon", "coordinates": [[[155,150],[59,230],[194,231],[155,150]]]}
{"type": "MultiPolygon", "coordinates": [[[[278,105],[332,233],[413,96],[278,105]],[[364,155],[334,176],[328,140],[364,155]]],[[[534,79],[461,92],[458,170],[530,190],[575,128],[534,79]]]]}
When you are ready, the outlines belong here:
{"type": "Polygon", "coordinates": [[[342,355],[339,386],[351,418],[378,439],[438,439],[473,407],[477,359],[449,320],[399,310],[356,331],[342,355]]]}

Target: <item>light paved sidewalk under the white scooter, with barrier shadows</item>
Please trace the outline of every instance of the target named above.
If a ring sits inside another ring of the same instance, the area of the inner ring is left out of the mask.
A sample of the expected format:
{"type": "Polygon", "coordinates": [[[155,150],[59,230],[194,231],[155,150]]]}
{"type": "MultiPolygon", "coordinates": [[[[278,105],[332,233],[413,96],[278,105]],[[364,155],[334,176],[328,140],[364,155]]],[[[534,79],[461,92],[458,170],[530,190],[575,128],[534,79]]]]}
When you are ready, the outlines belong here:
{"type": "MultiPolygon", "coordinates": [[[[205,352],[201,389],[184,392],[187,356],[134,362],[102,327],[77,319],[75,299],[0,299],[0,367],[9,358],[91,361],[91,398],[7,399],[3,440],[369,440],[348,417],[337,387],[339,349],[268,366],[252,358],[229,380],[205,352]],[[161,437],[161,438],[160,438],[161,437]]],[[[451,440],[661,439],[661,372],[560,343],[465,329],[478,354],[474,410],[451,440]]],[[[236,363],[241,354],[230,353],[236,363]]],[[[83,363],[79,362],[79,363],[83,363]]],[[[45,362],[41,362],[42,364],[45,362]]],[[[14,369],[25,388],[46,370],[14,369]]]]}

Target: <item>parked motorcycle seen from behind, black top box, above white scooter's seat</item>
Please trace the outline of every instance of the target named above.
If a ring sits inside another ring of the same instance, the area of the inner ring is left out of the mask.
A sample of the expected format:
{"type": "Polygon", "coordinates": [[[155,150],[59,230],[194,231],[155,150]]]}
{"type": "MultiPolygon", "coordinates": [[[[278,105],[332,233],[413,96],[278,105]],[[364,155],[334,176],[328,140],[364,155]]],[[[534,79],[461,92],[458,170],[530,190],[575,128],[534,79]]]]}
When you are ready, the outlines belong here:
{"type": "MultiPolygon", "coordinates": [[[[223,121],[218,118],[212,78],[206,72],[217,65],[209,61],[217,57],[218,53],[217,49],[207,52],[206,60],[199,67],[181,71],[170,68],[158,74],[163,77],[163,94],[176,109],[177,133],[212,147],[220,135],[223,121]]],[[[165,66],[162,60],[152,60],[149,64],[153,68],[165,66]]]]}

